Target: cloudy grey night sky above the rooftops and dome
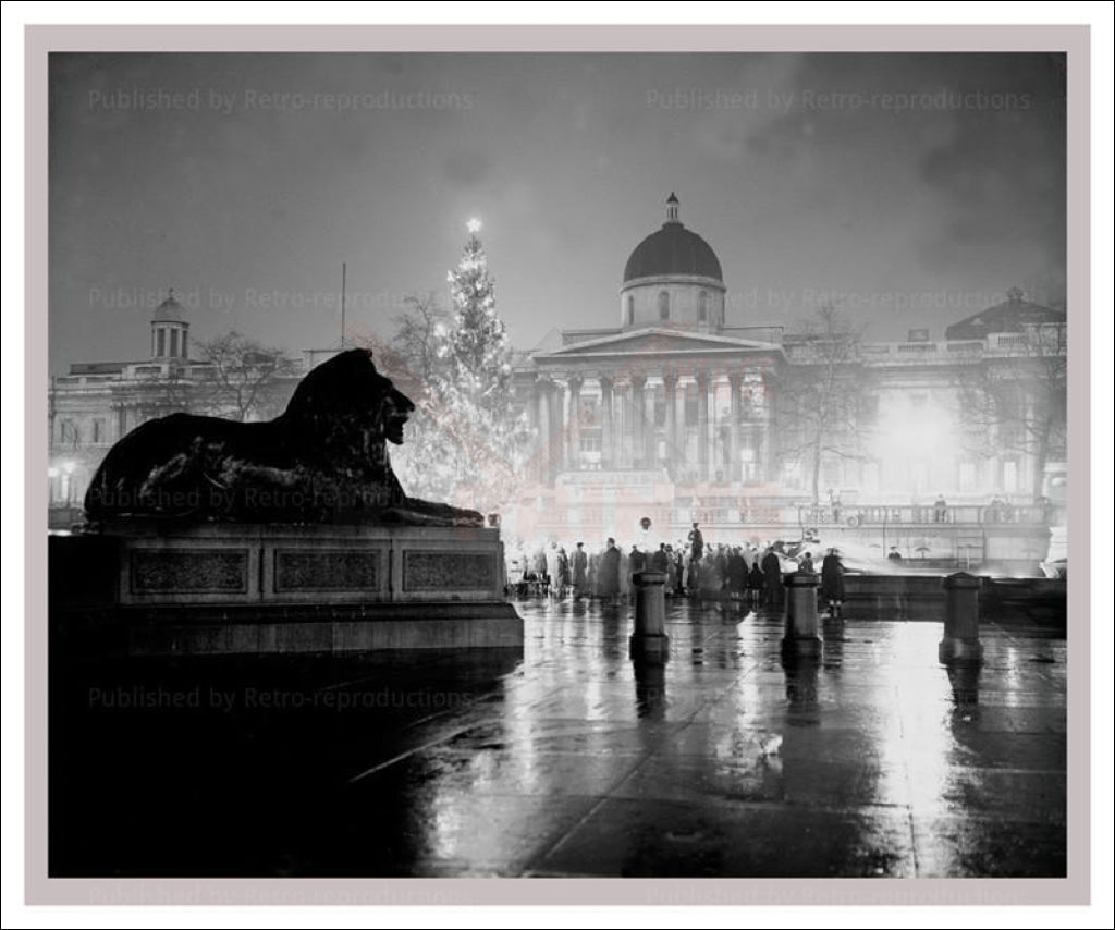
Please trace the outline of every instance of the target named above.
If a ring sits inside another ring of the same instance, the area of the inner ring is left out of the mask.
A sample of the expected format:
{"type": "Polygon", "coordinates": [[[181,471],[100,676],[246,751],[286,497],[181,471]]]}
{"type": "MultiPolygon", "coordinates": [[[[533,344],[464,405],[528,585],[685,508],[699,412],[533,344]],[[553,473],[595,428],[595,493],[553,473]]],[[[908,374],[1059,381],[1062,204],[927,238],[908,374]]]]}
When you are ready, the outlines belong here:
{"type": "Polygon", "coordinates": [[[389,337],[472,216],[516,347],[613,326],[670,191],[729,324],[1064,300],[1061,56],[54,55],[50,88],[56,374],[143,358],[171,285],[195,339],[329,346],[341,262],[389,337]]]}

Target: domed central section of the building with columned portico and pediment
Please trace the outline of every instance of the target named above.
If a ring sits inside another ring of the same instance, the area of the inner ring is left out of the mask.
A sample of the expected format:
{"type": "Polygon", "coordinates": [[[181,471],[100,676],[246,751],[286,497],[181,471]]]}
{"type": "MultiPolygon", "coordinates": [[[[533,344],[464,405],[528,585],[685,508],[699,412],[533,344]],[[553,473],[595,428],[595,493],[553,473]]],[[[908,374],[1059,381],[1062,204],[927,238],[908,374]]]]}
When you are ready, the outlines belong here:
{"type": "Polygon", "coordinates": [[[581,488],[573,510],[584,525],[649,516],[688,529],[694,488],[765,479],[782,329],[737,324],[726,298],[719,258],[681,222],[671,193],[665,222],[623,267],[617,324],[561,330],[522,358],[516,395],[551,437],[534,477],[581,488]],[[647,513],[621,516],[617,507],[636,487],[634,506],[647,513]]]}

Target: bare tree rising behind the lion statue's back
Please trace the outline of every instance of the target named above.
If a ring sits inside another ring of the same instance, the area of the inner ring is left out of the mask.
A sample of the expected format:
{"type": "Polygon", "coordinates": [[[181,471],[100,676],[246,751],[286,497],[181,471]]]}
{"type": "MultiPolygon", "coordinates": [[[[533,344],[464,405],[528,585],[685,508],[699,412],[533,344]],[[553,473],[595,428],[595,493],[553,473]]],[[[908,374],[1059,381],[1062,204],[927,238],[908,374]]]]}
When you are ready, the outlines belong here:
{"type": "Polygon", "coordinates": [[[293,387],[293,359],[236,331],[200,343],[197,352],[209,365],[203,396],[214,413],[239,420],[265,416],[293,387]]]}

